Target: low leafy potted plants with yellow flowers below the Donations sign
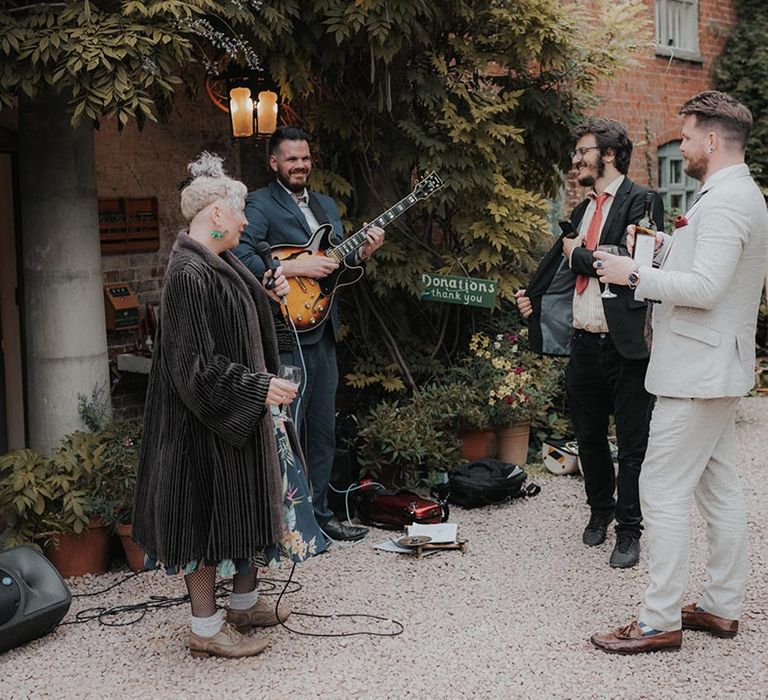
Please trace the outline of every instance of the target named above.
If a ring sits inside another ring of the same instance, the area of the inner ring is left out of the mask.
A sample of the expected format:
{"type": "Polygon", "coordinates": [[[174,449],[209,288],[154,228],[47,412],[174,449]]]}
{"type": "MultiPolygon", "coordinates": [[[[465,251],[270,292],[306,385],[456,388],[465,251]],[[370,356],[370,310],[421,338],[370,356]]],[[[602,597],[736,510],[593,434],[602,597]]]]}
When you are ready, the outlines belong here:
{"type": "Polygon", "coordinates": [[[462,432],[530,421],[534,452],[543,438],[565,436],[565,360],[525,350],[519,316],[508,306],[502,312],[500,323],[510,332],[498,333],[498,326],[489,324],[473,338],[467,354],[433,383],[370,410],[358,436],[358,460],[366,472],[428,490],[440,483],[440,472],[461,461],[462,432]],[[523,368],[519,376],[525,374],[517,387],[524,396],[507,404],[509,376],[518,376],[517,367],[523,368]]]}

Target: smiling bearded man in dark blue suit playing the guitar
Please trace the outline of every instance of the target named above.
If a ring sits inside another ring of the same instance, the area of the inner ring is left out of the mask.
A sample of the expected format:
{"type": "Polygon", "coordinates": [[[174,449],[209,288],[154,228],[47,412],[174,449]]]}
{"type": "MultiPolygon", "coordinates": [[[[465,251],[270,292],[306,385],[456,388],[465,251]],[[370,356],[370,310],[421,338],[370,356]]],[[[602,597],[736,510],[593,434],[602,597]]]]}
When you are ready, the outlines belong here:
{"type": "MultiPolygon", "coordinates": [[[[265,265],[256,245],[262,241],[274,246],[305,246],[323,224],[333,226],[331,242],[341,243],[343,231],[336,203],[307,188],[312,171],[309,135],[302,129],[283,126],[272,135],[269,167],[275,179],[262,189],[251,192],[245,205],[248,225],[235,248],[237,256],[262,279],[265,265]],[[336,240],[333,240],[335,234],[336,240]]],[[[370,259],[384,242],[384,229],[372,226],[365,241],[343,259],[354,266],[370,259]]],[[[300,285],[313,284],[333,275],[340,261],[324,254],[301,254],[281,260],[286,278],[297,278],[300,285]]],[[[330,303],[330,301],[328,302],[330,303]]],[[[335,540],[359,540],[368,530],[340,523],[328,508],[328,485],[336,451],[336,388],[339,372],[336,362],[338,306],[329,310],[329,322],[319,323],[299,335],[306,366],[306,378],[296,428],[305,435],[306,458],[312,485],[315,516],[327,536],[335,540]]],[[[298,350],[281,356],[283,364],[301,366],[298,350]]]]}

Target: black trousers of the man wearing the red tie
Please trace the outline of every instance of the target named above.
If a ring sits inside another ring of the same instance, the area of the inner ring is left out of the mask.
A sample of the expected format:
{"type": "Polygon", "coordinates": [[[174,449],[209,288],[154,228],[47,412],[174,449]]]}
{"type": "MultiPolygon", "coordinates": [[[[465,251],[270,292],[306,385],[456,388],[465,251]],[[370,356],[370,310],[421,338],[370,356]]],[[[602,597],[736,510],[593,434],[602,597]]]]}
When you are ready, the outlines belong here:
{"type": "Polygon", "coordinates": [[[654,403],[644,386],[647,367],[647,359],[622,357],[610,334],[577,330],[565,373],[587,503],[595,515],[614,515],[617,532],[638,537],[643,519],[638,479],[654,403]],[[608,446],[611,414],[619,447],[618,476],[608,446]]]}

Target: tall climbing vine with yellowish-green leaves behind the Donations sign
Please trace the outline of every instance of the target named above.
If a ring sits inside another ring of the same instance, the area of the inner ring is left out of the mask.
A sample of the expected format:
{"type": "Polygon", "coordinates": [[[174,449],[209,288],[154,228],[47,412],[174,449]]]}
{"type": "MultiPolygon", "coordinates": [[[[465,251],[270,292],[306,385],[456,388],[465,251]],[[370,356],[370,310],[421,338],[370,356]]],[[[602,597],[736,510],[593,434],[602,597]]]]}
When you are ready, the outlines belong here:
{"type": "Polygon", "coordinates": [[[557,0],[265,4],[255,46],[312,134],[313,186],[342,203],[350,230],[417,174],[446,183],[387,228],[366,281],[344,294],[348,381],[391,397],[465,350],[487,312],[422,303],[422,272],[491,278],[512,299],[551,243],[545,197],[568,167],[570,128],[636,48],[645,12],[634,0],[601,0],[596,15],[557,0]]]}

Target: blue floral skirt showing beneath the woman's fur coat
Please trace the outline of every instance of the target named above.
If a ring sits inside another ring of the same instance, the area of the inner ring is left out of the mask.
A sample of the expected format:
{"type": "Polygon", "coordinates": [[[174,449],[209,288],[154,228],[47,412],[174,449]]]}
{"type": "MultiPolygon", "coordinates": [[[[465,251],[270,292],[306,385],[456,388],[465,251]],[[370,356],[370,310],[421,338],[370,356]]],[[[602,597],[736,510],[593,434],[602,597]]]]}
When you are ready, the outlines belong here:
{"type": "MultiPolygon", "coordinates": [[[[283,480],[283,532],[280,540],[265,547],[250,559],[224,559],[207,561],[196,559],[186,566],[167,566],[167,574],[191,574],[203,566],[216,566],[223,578],[230,578],[236,573],[247,573],[253,567],[277,566],[282,559],[293,562],[306,561],[315,554],[325,551],[328,544],[315,520],[312,508],[312,493],[307,482],[307,475],[296,458],[291,442],[285,432],[283,421],[276,406],[271,407],[272,420],[275,424],[277,457],[283,480]]],[[[147,555],[144,564],[147,569],[155,569],[158,562],[147,555]]]]}

